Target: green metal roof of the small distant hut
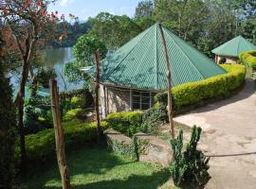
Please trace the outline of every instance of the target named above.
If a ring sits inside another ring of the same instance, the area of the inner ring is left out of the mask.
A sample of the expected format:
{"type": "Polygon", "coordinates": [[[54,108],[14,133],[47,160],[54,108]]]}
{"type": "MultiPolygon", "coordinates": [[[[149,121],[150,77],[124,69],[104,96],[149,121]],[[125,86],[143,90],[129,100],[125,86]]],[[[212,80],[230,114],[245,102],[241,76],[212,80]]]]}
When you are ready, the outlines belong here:
{"type": "Polygon", "coordinates": [[[240,53],[248,50],[256,50],[256,46],[247,42],[242,36],[238,36],[229,42],[214,48],[211,52],[216,55],[238,57],[240,53]]]}

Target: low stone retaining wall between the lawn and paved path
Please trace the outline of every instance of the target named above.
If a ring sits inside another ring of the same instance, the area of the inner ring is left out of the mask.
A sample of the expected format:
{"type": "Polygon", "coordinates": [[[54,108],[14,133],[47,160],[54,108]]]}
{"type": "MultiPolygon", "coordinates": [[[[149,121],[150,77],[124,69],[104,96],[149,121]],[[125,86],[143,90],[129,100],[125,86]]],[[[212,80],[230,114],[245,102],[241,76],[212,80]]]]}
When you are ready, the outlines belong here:
{"type": "Polygon", "coordinates": [[[105,131],[107,144],[119,154],[128,155],[139,162],[168,166],[173,158],[171,145],[156,136],[139,132],[131,139],[114,129],[105,131]]]}

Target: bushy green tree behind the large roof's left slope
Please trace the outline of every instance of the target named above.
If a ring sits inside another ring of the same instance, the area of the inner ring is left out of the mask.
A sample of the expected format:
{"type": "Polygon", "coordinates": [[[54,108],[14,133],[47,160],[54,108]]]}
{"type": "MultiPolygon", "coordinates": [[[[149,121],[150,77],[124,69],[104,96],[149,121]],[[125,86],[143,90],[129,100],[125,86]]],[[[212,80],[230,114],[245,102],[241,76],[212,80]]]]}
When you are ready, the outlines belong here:
{"type": "Polygon", "coordinates": [[[108,49],[116,50],[124,43],[136,37],[142,30],[126,15],[112,15],[101,12],[95,18],[89,18],[89,35],[97,37],[108,49]]]}

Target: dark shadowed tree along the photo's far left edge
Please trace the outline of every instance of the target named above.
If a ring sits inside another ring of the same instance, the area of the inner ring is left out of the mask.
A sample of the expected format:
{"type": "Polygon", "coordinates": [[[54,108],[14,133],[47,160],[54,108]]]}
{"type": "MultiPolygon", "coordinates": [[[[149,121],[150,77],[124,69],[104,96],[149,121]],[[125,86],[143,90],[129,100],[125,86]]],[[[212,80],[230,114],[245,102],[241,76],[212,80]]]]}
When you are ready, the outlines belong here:
{"type": "Polygon", "coordinates": [[[12,188],[14,171],[14,146],[16,142],[15,111],[11,99],[9,79],[3,64],[3,39],[0,34],[0,188],[12,188]]]}

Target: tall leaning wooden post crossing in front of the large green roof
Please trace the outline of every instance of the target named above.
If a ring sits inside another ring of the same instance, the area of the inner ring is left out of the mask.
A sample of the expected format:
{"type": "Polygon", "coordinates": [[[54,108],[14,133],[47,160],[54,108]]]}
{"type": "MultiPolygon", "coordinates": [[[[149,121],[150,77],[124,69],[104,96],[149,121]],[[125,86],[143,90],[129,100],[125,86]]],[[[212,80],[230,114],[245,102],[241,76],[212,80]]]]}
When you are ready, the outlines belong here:
{"type": "Polygon", "coordinates": [[[161,24],[159,24],[159,29],[161,33],[162,38],[162,44],[163,44],[163,50],[164,50],[164,56],[166,60],[166,77],[167,77],[167,94],[168,94],[168,117],[169,117],[169,123],[171,127],[171,135],[174,139],[174,119],[173,119],[173,100],[172,100],[172,77],[171,77],[171,70],[170,70],[170,60],[167,52],[165,37],[163,33],[163,28],[161,24]]]}

